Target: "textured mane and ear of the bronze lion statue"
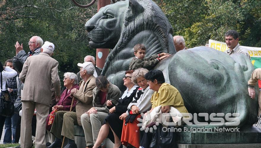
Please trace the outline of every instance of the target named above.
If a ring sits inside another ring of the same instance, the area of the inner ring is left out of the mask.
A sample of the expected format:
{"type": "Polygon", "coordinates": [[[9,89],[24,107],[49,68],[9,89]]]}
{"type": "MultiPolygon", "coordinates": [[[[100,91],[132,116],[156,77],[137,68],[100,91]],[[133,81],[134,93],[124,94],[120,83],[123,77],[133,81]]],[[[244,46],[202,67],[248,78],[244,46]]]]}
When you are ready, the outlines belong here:
{"type": "Polygon", "coordinates": [[[173,28],[161,9],[151,0],[129,0],[120,39],[108,55],[102,75],[110,74],[106,73],[107,69],[112,66],[118,52],[124,50],[133,37],[145,30],[152,31],[158,38],[159,44],[155,46],[157,53],[171,53],[168,38],[169,34],[173,33],[173,28]]]}

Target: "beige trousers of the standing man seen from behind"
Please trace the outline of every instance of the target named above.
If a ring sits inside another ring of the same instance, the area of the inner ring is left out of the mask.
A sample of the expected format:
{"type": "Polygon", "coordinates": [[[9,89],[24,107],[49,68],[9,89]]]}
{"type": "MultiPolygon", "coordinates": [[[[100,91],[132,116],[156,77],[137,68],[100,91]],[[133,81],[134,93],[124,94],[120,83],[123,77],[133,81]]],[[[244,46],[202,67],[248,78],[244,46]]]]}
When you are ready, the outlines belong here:
{"type": "Polygon", "coordinates": [[[21,148],[30,148],[32,146],[32,118],[34,109],[36,109],[35,148],[45,148],[45,128],[49,106],[34,101],[23,101],[22,106],[21,148]]]}

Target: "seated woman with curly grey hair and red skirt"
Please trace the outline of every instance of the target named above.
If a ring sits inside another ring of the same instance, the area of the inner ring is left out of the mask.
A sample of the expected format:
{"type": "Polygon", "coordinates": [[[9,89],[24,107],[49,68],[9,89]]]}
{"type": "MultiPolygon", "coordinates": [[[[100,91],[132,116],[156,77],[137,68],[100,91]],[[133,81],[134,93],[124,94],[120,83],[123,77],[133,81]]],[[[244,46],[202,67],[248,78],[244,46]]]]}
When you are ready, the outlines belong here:
{"type": "Polygon", "coordinates": [[[132,73],[131,81],[139,85],[139,89],[133,101],[128,105],[127,117],[122,118],[123,128],[121,142],[123,145],[130,147],[139,147],[140,130],[137,126],[140,123],[137,118],[141,118],[141,113],[145,113],[151,109],[151,96],[154,93],[152,89],[149,89],[148,81],[144,78],[144,75],[148,72],[147,69],[139,68],[132,73]]]}

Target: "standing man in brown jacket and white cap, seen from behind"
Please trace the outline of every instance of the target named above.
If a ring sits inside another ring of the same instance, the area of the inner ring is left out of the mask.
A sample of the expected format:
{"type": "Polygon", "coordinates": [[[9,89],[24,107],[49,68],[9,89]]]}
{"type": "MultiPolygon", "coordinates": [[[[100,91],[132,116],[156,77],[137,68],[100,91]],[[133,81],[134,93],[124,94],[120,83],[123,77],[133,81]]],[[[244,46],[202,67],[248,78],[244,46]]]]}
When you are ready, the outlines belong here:
{"type": "Polygon", "coordinates": [[[24,83],[22,96],[21,147],[32,146],[32,118],[36,109],[35,147],[45,147],[45,125],[49,114],[51,84],[53,83],[57,99],[60,99],[61,84],[58,76],[58,62],[50,57],[54,44],[46,41],[40,54],[30,56],[23,65],[20,80],[24,83]]]}

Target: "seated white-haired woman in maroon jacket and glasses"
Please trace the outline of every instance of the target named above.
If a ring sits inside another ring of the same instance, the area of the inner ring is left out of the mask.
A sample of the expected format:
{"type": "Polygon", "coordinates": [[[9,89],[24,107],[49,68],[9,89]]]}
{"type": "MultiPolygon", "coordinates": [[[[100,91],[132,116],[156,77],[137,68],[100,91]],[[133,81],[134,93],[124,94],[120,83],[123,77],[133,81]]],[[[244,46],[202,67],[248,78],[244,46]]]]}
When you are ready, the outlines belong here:
{"type": "MultiPolygon", "coordinates": [[[[64,73],[64,78],[63,78],[63,85],[66,87],[66,89],[63,91],[63,93],[61,94],[61,99],[59,100],[59,102],[52,107],[52,110],[63,110],[63,111],[69,111],[71,108],[71,102],[72,102],[72,97],[70,96],[71,94],[71,90],[76,88],[79,90],[79,86],[77,84],[78,78],[76,76],[76,74],[74,73],[64,73]]],[[[76,105],[77,99],[74,99],[73,104],[72,104],[72,109],[74,110],[75,105],[76,105]]],[[[47,121],[46,121],[46,130],[49,136],[49,142],[47,142],[47,146],[49,146],[51,144],[51,142],[54,141],[54,136],[50,133],[50,130],[52,128],[52,124],[48,125],[49,123],[49,118],[50,118],[50,114],[47,117],[47,121]]]]}

